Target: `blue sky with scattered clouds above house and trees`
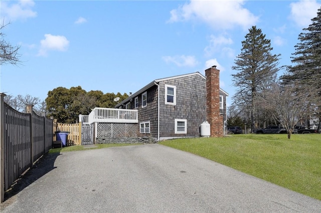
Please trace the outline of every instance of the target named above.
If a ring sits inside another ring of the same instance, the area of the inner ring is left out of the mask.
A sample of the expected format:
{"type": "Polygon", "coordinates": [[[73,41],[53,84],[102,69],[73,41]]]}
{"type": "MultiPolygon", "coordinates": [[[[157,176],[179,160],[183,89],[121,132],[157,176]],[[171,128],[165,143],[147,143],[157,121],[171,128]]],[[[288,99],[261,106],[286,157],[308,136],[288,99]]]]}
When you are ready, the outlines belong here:
{"type": "MultiPolygon", "coordinates": [[[[1,66],[1,92],[45,100],[56,87],[135,92],[157,78],[217,65],[220,87],[235,93],[231,69],[256,25],[280,65],[321,0],[1,0],[6,40],[22,64],[1,66]]],[[[279,73],[282,74],[282,73],[279,73]]]]}

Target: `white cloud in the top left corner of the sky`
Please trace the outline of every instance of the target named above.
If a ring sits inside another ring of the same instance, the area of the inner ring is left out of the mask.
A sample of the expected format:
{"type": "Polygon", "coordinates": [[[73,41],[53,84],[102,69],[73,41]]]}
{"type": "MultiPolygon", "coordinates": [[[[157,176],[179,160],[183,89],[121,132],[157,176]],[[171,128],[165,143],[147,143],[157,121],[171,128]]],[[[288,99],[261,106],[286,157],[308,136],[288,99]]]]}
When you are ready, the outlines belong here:
{"type": "Polygon", "coordinates": [[[11,1],[1,1],[1,18],[12,21],[37,16],[37,12],[32,10],[35,5],[33,0],[20,0],[13,4],[9,4],[9,2],[11,1]]]}

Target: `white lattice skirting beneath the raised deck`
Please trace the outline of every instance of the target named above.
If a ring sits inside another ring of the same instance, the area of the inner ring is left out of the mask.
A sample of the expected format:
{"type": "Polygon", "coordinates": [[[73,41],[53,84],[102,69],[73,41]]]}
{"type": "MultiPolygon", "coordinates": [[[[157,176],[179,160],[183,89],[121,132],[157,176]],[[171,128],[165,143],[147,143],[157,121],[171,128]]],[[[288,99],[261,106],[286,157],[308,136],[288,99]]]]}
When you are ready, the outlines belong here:
{"type": "Polygon", "coordinates": [[[137,137],[138,123],[97,123],[96,137],[137,137]]]}

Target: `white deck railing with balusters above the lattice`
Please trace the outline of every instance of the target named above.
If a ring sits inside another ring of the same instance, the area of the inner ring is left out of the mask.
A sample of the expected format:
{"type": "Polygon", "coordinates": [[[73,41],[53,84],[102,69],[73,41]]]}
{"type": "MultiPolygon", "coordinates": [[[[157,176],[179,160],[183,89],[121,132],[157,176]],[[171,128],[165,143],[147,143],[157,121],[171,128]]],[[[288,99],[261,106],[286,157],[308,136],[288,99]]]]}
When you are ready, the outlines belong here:
{"type": "Polygon", "coordinates": [[[88,115],[88,123],[138,123],[136,109],[99,108],[95,107],[88,115]]]}

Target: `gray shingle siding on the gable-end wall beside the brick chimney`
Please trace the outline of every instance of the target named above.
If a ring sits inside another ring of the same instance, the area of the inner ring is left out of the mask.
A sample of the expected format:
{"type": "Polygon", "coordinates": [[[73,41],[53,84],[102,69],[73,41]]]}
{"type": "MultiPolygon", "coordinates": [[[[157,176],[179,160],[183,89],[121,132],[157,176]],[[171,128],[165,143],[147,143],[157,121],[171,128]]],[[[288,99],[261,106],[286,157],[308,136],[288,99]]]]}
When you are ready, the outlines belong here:
{"type": "Polygon", "coordinates": [[[159,82],[159,136],[198,136],[206,119],[205,79],[198,74],[159,82]],[[165,84],[176,86],[176,105],[165,104],[165,84]],[[175,119],[187,119],[187,133],[175,133],[175,119]]]}

